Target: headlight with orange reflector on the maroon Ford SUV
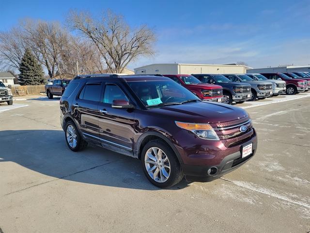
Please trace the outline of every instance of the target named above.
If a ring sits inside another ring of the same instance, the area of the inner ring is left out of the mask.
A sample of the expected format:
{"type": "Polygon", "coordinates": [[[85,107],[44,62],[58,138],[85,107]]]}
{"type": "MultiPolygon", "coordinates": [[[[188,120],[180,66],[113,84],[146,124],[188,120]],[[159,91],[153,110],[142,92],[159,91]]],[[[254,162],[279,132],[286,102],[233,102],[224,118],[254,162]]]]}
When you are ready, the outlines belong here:
{"type": "Polygon", "coordinates": [[[195,133],[202,139],[219,141],[217,133],[215,133],[214,129],[209,124],[194,124],[179,121],[175,121],[175,124],[182,129],[195,133]]]}

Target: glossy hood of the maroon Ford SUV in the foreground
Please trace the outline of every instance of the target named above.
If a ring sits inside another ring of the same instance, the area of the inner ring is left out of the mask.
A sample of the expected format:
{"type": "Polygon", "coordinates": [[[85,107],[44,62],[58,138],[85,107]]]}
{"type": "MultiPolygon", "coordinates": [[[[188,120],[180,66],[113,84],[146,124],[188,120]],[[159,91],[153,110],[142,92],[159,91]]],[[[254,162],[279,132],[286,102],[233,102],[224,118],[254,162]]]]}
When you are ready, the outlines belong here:
{"type": "Polygon", "coordinates": [[[218,123],[248,116],[242,108],[215,102],[190,102],[152,108],[149,111],[160,117],[189,123],[218,123]]]}

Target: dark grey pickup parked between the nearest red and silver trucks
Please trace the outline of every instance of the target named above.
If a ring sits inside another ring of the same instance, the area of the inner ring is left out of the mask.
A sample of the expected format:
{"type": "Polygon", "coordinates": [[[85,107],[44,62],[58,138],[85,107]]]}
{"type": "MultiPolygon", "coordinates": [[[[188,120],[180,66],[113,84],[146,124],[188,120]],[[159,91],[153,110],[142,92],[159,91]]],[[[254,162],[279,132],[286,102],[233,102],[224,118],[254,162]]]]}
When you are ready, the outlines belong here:
{"type": "Polygon", "coordinates": [[[192,74],[202,83],[217,84],[223,87],[223,103],[243,103],[251,98],[251,85],[232,82],[221,74],[192,74]]]}

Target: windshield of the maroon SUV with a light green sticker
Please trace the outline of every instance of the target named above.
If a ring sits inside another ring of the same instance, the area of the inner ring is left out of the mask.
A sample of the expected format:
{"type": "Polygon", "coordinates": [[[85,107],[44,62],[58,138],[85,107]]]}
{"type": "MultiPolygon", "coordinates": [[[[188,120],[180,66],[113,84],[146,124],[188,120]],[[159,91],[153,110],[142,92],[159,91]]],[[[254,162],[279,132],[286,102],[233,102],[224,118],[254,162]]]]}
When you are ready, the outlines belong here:
{"type": "Polygon", "coordinates": [[[146,107],[201,101],[185,87],[172,80],[128,82],[146,107]]]}

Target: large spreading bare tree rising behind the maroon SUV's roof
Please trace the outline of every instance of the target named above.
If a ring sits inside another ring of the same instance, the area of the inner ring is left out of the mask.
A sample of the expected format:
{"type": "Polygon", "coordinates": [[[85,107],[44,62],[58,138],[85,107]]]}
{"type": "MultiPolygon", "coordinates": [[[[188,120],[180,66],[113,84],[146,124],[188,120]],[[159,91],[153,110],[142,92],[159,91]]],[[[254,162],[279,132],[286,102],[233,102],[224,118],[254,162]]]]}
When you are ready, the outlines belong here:
{"type": "Polygon", "coordinates": [[[121,73],[137,57],[154,54],[153,30],[145,25],[131,30],[123,17],[110,11],[100,19],[87,12],[71,11],[67,23],[70,29],[93,42],[110,72],[121,73]]]}

